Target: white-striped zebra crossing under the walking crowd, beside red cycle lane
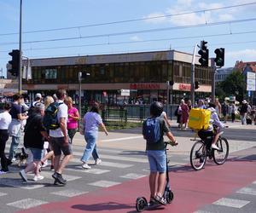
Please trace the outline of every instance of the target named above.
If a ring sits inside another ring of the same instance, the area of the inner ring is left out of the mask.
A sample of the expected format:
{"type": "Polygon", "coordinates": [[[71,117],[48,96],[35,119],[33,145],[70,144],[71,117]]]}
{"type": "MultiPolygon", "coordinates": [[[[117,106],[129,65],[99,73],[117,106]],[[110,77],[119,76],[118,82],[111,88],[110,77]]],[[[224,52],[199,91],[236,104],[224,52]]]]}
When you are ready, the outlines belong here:
{"type": "Polygon", "coordinates": [[[21,168],[17,165],[10,166],[10,172],[0,178],[1,203],[6,204],[3,205],[3,208],[1,206],[1,209],[6,212],[15,212],[19,209],[27,210],[40,204],[47,204],[52,199],[72,198],[99,188],[118,185],[123,181],[148,176],[148,170],[143,170],[148,168],[148,158],[143,153],[133,155],[122,150],[99,148],[102,163],[95,165],[95,161],[90,160],[91,169],[84,170],[80,160],[83,153],[79,152],[84,147],[73,146],[73,149],[73,158],[63,172],[63,178],[67,179],[67,185],[64,188],[53,185],[53,171],[49,170],[49,166],[41,171],[44,180],[35,182],[32,181],[33,174],[26,174],[28,178],[26,183],[19,176],[21,168]],[[13,199],[8,199],[10,188],[14,188],[17,194],[22,194],[21,199],[20,197],[15,198],[15,196],[12,196],[13,199]],[[39,196],[38,192],[44,194],[44,197],[39,196]],[[6,201],[3,201],[5,198],[6,201]]]}

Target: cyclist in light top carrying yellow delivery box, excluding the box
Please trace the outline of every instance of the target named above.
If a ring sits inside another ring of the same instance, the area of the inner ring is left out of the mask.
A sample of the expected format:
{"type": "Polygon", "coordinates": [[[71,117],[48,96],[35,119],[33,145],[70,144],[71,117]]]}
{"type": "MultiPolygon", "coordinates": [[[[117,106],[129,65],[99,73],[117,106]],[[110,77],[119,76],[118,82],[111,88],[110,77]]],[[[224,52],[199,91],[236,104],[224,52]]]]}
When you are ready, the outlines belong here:
{"type": "Polygon", "coordinates": [[[215,110],[216,105],[214,103],[210,102],[208,104],[208,106],[209,107],[207,109],[212,112],[211,113],[211,118],[210,118],[210,125],[209,125],[207,130],[200,130],[198,132],[198,135],[204,141],[208,137],[213,138],[213,140],[212,140],[212,148],[219,150],[219,148],[217,147],[216,143],[218,141],[219,135],[221,135],[223,133],[224,124],[218,118],[218,113],[215,110]],[[214,125],[214,127],[216,126],[216,128],[215,128],[216,129],[216,133],[214,133],[213,125],[214,125]]]}

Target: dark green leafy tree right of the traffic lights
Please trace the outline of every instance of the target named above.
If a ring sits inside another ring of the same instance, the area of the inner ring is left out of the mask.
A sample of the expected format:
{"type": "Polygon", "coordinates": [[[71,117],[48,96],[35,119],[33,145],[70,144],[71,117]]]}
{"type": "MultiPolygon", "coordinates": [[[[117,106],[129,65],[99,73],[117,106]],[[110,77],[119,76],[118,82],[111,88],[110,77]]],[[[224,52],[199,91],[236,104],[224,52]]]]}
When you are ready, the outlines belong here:
{"type": "Polygon", "coordinates": [[[231,72],[223,82],[219,83],[216,88],[217,92],[221,93],[219,95],[224,95],[226,97],[236,95],[236,100],[241,102],[247,92],[246,78],[242,72],[234,71],[231,72]]]}

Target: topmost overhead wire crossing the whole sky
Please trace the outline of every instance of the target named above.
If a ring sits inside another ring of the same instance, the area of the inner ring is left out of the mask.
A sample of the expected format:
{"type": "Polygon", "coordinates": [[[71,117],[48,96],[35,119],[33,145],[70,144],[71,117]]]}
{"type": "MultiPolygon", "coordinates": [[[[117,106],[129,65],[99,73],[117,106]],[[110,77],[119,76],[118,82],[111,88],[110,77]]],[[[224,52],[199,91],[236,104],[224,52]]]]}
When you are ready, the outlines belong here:
{"type": "MultiPolygon", "coordinates": [[[[71,30],[71,29],[77,29],[77,28],[85,28],[85,27],[91,27],[91,26],[107,26],[107,25],[115,25],[115,24],[123,24],[128,22],[134,22],[134,21],[142,21],[142,20],[154,20],[154,19],[160,19],[160,18],[170,18],[172,16],[178,16],[178,15],[184,15],[184,14],[198,14],[198,13],[204,13],[208,11],[214,11],[214,10],[221,10],[221,9],[232,9],[237,7],[244,7],[256,4],[256,2],[253,3],[241,3],[236,5],[230,5],[225,7],[219,7],[215,9],[201,9],[201,10],[195,10],[191,12],[182,12],[177,14],[165,14],[165,15],[158,15],[154,17],[147,17],[147,18],[140,18],[140,19],[131,19],[131,20],[117,20],[112,22],[105,22],[105,23],[98,23],[98,24],[90,24],[90,25],[84,25],[84,26],[70,26],[70,27],[61,27],[61,28],[53,28],[53,29],[45,29],[45,30],[37,30],[37,31],[27,31],[22,32],[23,34],[26,33],[37,33],[37,32],[52,32],[52,31],[63,31],[63,30],[71,30]]],[[[18,34],[19,32],[10,32],[10,33],[2,33],[0,36],[10,36],[18,34]]]]}

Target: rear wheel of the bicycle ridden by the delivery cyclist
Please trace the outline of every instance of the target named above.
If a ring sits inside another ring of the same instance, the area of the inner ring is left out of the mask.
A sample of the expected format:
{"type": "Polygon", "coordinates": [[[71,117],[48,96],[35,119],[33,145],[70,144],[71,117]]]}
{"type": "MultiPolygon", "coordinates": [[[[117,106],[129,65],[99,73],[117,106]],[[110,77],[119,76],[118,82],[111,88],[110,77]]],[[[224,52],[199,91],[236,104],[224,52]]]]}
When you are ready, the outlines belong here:
{"type": "Polygon", "coordinates": [[[196,141],[190,152],[190,164],[194,170],[201,170],[207,162],[206,145],[203,141],[196,141]]]}

